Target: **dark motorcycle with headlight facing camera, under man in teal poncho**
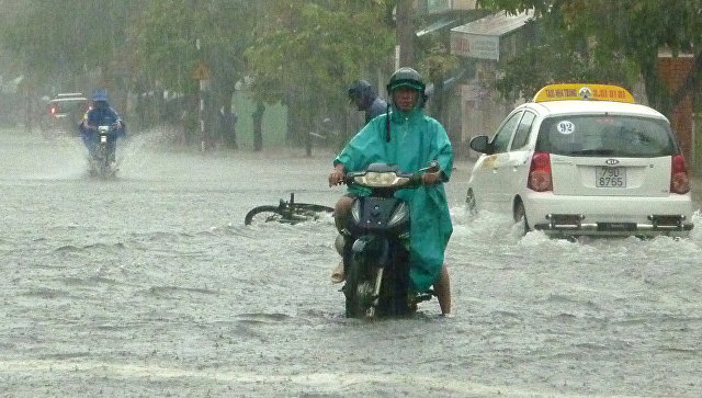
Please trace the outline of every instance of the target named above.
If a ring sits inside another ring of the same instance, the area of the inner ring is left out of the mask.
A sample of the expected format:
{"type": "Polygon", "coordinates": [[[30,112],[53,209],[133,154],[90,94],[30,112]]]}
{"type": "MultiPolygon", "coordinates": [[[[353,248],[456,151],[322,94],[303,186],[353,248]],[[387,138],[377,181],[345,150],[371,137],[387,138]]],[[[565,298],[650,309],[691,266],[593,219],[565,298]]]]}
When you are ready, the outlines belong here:
{"type": "Polygon", "coordinates": [[[349,172],[346,184],[370,189],[354,198],[335,247],[343,257],[347,318],[410,315],[417,304],[435,294],[411,292],[409,278],[409,203],[394,196],[401,189],[421,185],[426,171],[403,172],[395,164],[373,163],[365,171],[349,172]]]}

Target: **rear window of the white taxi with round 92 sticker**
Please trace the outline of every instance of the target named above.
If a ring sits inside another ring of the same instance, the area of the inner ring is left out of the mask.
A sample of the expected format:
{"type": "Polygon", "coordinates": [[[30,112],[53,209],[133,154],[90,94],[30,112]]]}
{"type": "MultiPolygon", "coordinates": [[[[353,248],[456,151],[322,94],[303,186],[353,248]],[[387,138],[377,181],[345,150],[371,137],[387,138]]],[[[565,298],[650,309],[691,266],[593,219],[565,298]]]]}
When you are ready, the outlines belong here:
{"type": "Polygon", "coordinates": [[[665,121],[624,115],[559,115],[543,121],[536,150],[565,156],[670,156],[677,147],[665,121]]]}

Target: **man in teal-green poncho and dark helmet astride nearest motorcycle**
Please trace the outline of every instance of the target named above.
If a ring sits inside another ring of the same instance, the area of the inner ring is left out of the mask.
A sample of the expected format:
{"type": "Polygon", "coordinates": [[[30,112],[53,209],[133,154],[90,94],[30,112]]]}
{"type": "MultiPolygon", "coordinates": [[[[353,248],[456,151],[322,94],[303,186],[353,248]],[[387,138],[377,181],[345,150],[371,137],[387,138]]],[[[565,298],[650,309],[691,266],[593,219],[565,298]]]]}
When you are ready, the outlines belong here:
{"type": "MultiPolygon", "coordinates": [[[[375,117],[361,129],[333,160],[329,185],[340,184],[344,172],[364,170],[373,162],[397,164],[400,170],[416,172],[435,160],[440,170],[427,172],[422,185],[401,190],[397,197],[410,203],[410,278],[416,292],[427,292],[432,285],[441,311],[451,312],[451,288],[444,265],[444,250],[453,226],[443,183],[453,167],[453,149],[446,130],[421,110],[424,93],[421,76],[411,68],[400,68],[390,77],[387,92],[388,113],[375,117]]],[[[351,186],[336,205],[335,218],[341,230],[349,217],[353,197],[364,195],[351,186]]],[[[342,276],[343,277],[343,276],[342,276]]]]}

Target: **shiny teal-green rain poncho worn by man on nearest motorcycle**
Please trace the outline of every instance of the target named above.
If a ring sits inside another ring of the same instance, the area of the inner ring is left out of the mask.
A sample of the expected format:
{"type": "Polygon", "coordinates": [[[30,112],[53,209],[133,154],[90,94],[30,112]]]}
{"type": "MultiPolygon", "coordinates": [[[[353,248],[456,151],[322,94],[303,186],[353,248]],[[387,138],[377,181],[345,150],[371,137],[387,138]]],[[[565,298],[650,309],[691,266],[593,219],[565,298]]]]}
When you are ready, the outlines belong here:
{"type": "MultiPolygon", "coordinates": [[[[380,115],[361,129],[341,150],[333,164],[343,163],[347,172],[362,171],[370,163],[394,163],[400,170],[416,172],[437,160],[442,180],[449,181],[453,149],[443,126],[426,116],[419,106],[410,112],[393,109],[389,141],[387,114],[380,115]]],[[[351,186],[351,193],[367,191],[351,186]]],[[[444,250],[453,231],[443,183],[401,190],[395,194],[410,204],[410,278],[417,292],[427,292],[437,282],[444,250]]]]}

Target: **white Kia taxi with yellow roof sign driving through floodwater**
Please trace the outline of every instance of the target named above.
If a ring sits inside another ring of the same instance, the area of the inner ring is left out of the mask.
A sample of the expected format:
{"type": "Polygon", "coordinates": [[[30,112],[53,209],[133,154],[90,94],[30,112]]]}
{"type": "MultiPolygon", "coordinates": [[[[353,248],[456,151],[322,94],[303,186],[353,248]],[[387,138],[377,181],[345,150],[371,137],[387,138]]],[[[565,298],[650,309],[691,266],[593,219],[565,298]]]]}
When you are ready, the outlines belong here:
{"type": "Polygon", "coordinates": [[[506,212],[524,234],[688,236],[690,179],[669,121],[624,89],[552,84],[477,136],[466,205],[506,212]]]}

